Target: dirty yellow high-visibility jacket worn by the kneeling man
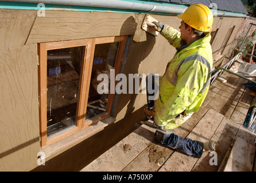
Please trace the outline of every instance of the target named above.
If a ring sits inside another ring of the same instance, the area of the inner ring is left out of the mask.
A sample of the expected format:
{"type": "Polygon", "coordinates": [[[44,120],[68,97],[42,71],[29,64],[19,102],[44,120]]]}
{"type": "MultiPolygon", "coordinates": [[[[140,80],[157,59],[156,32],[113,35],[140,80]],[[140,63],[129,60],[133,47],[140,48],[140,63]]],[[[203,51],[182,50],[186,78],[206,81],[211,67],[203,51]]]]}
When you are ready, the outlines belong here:
{"type": "Polygon", "coordinates": [[[211,35],[208,33],[184,46],[185,41],[176,29],[165,25],[161,34],[179,51],[160,78],[154,121],[166,129],[174,129],[185,122],[177,124],[175,117],[184,111],[185,114],[197,112],[207,95],[212,70],[211,35]]]}

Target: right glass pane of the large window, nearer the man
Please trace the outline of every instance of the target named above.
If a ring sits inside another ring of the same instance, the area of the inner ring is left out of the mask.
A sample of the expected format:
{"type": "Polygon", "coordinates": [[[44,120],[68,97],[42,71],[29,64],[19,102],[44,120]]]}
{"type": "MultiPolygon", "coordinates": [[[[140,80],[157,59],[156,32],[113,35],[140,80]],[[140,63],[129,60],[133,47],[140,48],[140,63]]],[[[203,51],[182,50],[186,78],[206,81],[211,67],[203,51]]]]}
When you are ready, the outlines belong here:
{"type": "Polygon", "coordinates": [[[108,89],[110,88],[110,69],[115,67],[118,47],[119,42],[95,45],[86,120],[106,112],[108,94],[98,93],[97,86],[102,81],[97,81],[97,77],[99,74],[107,74],[108,89]]]}

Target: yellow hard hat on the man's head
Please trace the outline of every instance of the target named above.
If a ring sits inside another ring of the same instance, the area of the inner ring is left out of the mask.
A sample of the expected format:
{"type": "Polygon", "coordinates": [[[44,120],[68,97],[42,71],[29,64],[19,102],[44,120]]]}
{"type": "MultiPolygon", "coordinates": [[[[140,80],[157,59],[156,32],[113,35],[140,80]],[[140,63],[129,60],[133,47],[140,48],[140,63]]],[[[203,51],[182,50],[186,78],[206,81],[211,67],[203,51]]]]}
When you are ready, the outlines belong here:
{"type": "Polygon", "coordinates": [[[194,3],[177,17],[201,32],[210,32],[212,30],[212,22],[214,21],[212,11],[201,3],[194,3]]]}

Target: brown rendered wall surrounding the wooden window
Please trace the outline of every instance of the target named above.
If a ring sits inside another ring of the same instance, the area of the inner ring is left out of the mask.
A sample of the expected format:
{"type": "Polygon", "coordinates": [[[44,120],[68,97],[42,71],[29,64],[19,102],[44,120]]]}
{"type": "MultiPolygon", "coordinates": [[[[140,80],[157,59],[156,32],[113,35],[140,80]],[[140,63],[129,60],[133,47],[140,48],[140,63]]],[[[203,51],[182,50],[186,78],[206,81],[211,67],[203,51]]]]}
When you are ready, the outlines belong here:
{"type": "MultiPolygon", "coordinates": [[[[80,170],[145,118],[142,112],[145,94],[120,94],[114,124],[52,157],[45,166],[37,166],[40,152],[37,43],[133,35],[124,73],[161,75],[176,50],[161,35],[153,37],[141,30],[144,16],[46,11],[45,17],[37,17],[36,10],[0,10],[0,171],[80,170]]],[[[174,16],[153,16],[176,29],[180,26],[180,20],[174,16]]],[[[230,43],[242,21],[243,18],[215,18],[214,28],[220,30],[213,43],[214,58],[228,27],[236,26],[230,43]]]]}

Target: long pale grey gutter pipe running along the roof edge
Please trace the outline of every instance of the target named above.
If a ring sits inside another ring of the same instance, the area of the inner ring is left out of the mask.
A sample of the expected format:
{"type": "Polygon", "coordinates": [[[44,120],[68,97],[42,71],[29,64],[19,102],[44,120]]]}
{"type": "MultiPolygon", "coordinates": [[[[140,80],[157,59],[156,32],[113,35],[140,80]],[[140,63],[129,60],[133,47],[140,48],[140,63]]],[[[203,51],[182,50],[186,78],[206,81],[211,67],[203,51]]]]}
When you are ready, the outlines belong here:
{"type": "MultiPolygon", "coordinates": [[[[11,0],[7,0],[11,1],[11,0]]],[[[30,2],[30,3],[48,3],[56,5],[73,5],[73,6],[91,6],[104,7],[113,9],[139,10],[148,12],[160,12],[170,14],[183,14],[187,7],[157,5],[149,3],[137,3],[118,0],[14,0],[13,2],[30,2]]],[[[213,11],[217,17],[248,17],[245,14],[222,13],[216,10],[213,11]]]]}

